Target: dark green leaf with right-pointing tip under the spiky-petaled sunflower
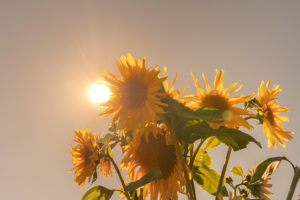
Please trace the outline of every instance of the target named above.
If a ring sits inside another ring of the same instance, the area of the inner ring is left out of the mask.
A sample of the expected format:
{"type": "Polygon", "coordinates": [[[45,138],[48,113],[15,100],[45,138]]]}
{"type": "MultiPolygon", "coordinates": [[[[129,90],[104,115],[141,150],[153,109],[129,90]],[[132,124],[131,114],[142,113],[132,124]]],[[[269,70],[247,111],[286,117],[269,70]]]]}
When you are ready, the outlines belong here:
{"type": "Polygon", "coordinates": [[[220,142],[232,147],[234,151],[246,148],[250,142],[254,142],[261,148],[261,144],[256,139],[238,129],[221,126],[217,132],[216,137],[220,142]]]}

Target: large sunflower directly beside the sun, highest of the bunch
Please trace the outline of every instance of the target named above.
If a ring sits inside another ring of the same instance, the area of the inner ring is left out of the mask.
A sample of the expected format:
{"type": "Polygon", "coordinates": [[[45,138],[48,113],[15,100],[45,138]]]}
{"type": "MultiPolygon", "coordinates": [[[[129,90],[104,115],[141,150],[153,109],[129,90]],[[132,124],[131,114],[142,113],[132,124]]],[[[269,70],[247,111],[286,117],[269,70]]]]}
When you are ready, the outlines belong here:
{"type": "Polygon", "coordinates": [[[100,113],[104,117],[113,113],[112,123],[119,121],[120,130],[135,130],[147,123],[155,122],[158,114],[165,113],[162,107],[167,104],[161,102],[166,96],[162,91],[162,82],[157,67],[145,67],[145,57],[136,59],[131,54],[117,59],[121,77],[110,72],[103,75],[109,83],[112,95],[103,104],[107,109],[100,113]]]}

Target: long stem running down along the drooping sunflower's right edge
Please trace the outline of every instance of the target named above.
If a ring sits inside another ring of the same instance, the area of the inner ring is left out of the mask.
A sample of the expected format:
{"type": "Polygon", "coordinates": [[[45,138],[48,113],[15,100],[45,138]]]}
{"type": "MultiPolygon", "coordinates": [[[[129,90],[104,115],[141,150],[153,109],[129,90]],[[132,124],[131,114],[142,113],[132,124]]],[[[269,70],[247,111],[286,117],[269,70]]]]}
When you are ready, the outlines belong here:
{"type": "Polygon", "coordinates": [[[172,121],[172,125],[170,127],[171,128],[170,129],[171,138],[172,138],[172,141],[174,143],[176,152],[178,154],[178,157],[179,157],[182,169],[183,169],[184,177],[185,177],[185,180],[186,180],[186,188],[187,188],[188,197],[189,197],[190,200],[195,200],[193,189],[192,189],[192,184],[191,184],[189,174],[188,174],[188,171],[187,171],[187,167],[186,167],[186,164],[184,162],[184,158],[182,156],[182,152],[181,152],[181,149],[179,147],[179,141],[177,139],[175,131],[173,130],[173,127],[174,127],[174,122],[172,121]]]}

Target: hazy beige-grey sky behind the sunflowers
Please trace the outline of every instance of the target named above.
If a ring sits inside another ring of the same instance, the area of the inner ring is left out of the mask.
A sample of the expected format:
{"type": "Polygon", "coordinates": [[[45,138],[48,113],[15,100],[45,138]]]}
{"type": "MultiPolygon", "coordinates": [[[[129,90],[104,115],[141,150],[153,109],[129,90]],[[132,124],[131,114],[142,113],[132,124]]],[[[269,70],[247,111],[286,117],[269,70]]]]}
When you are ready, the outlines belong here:
{"type": "MultiPolygon", "coordinates": [[[[263,149],[250,144],[233,153],[229,169],[271,156],[300,165],[299,20],[300,1],[287,0],[0,0],[1,199],[82,197],[87,187],[80,190],[67,173],[73,130],[106,132],[109,118],[97,117],[101,108],[88,89],[104,69],[116,72],[116,57],[127,52],[166,65],[171,79],[178,72],[176,86],[191,86],[188,93],[195,92],[190,72],[212,81],[215,69],[225,70],[225,84],[243,83],[241,94],[256,92],[261,80],[280,84],[279,104],[290,108],[284,127],[294,139],[285,150],[267,148],[259,126],[251,134],[263,149]]],[[[226,148],[209,153],[220,172],[226,148]]],[[[279,166],[271,199],[285,199],[292,173],[286,162],[279,166]]],[[[119,187],[116,175],[96,183],[119,187]]],[[[197,196],[213,199],[202,189],[197,196]]]]}

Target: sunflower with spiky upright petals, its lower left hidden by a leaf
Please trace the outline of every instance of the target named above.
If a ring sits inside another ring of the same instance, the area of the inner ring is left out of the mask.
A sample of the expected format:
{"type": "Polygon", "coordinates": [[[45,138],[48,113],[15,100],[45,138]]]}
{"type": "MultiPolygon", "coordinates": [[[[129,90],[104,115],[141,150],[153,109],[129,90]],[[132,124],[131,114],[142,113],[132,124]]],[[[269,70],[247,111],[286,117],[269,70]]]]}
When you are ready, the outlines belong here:
{"type": "Polygon", "coordinates": [[[210,123],[213,128],[219,128],[220,126],[226,126],[228,128],[238,128],[238,127],[245,127],[245,128],[252,128],[252,126],[242,117],[243,115],[251,115],[247,110],[241,109],[238,107],[234,107],[234,105],[239,103],[244,103],[249,101],[252,95],[248,96],[234,96],[229,97],[234,92],[239,91],[243,85],[239,85],[238,87],[233,88],[238,83],[235,81],[231,85],[223,88],[223,80],[224,80],[224,71],[221,70],[218,73],[216,70],[216,77],[214,80],[214,87],[211,89],[206,77],[202,74],[202,77],[206,83],[206,92],[200,86],[196,77],[191,73],[195,86],[197,88],[198,94],[197,96],[193,97],[196,102],[191,102],[189,105],[192,109],[198,109],[204,106],[214,107],[219,109],[222,112],[222,117],[224,122],[223,123],[210,123]],[[231,89],[230,91],[228,91],[231,89]]]}

